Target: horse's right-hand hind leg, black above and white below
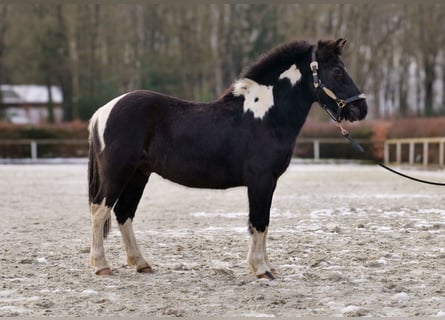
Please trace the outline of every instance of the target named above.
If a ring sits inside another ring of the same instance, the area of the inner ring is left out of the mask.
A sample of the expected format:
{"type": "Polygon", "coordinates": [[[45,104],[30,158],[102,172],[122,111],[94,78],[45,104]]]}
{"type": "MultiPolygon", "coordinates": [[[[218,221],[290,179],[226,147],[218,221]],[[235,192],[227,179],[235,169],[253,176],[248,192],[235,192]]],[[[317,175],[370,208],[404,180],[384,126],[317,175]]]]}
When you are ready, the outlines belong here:
{"type": "Polygon", "coordinates": [[[142,256],[133,231],[133,218],[147,181],[148,175],[136,171],[120,195],[114,212],[127,253],[128,265],[135,266],[138,272],[150,273],[153,270],[142,256]]]}

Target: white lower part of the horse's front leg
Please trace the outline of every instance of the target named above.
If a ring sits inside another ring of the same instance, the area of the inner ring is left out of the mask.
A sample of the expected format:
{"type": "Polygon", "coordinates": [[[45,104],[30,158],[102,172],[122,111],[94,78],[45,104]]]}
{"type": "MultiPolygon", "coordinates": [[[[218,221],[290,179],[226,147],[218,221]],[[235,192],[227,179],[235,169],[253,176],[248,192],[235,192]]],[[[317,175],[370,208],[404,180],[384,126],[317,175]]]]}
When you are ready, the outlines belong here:
{"type": "Polygon", "coordinates": [[[253,234],[247,260],[252,272],[261,276],[271,271],[266,253],[267,228],[265,232],[258,232],[255,228],[252,229],[253,234]]]}

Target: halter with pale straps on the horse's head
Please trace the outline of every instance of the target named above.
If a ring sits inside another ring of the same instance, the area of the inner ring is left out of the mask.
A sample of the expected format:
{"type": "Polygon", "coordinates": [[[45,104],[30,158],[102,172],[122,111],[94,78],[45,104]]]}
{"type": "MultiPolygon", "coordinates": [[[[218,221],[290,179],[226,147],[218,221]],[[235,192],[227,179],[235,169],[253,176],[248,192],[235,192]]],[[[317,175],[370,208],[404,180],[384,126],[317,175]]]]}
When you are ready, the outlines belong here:
{"type": "Polygon", "coordinates": [[[315,49],[312,50],[312,62],[310,64],[310,67],[312,70],[312,77],[314,79],[314,88],[315,88],[317,100],[320,103],[321,107],[329,114],[329,116],[332,118],[332,120],[334,120],[336,122],[340,122],[341,121],[341,119],[340,119],[341,109],[346,107],[351,102],[366,99],[366,95],[364,93],[359,93],[359,94],[352,96],[350,98],[347,98],[347,99],[340,99],[339,97],[337,97],[337,95],[331,89],[326,87],[318,77],[318,62],[317,62],[317,59],[315,56],[315,49]],[[329,98],[331,98],[332,100],[334,100],[337,103],[338,109],[337,109],[336,115],[334,115],[332,113],[332,111],[330,111],[327,108],[326,104],[321,103],[320,97],[318,95],[318,89],[321,89],[325,95],[327,95],[329,98]]]}

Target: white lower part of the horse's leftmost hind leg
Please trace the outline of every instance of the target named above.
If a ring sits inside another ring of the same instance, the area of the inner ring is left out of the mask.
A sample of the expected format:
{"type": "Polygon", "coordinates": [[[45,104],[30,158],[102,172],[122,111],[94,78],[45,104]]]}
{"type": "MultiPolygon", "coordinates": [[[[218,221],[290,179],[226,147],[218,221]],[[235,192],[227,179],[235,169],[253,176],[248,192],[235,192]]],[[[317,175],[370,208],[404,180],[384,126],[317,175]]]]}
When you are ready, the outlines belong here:
{"type": "Polygon", "coordinates": [[[91,204],[91,264],[98,272],[103,269],[108,269],[108,263],[105,259],[104,250],[104,224],[111,216],[111,208],[105,205],[105,199],[101,204],[91,204]]]}

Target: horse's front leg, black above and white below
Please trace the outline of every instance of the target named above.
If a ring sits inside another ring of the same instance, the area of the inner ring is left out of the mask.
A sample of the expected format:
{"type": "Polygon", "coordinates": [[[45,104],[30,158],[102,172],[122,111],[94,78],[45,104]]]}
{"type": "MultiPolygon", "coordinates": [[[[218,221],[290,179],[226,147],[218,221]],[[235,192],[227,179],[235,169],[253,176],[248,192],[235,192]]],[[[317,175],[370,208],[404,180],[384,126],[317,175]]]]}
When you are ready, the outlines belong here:
{"type": "Polygon", "coordinates": [[[270,206],[275,190],[272,179],[257,182],[249,187],[249,231],[252,235],[248,254],[251,271],[259,278],[274,279],[275,270],[267,256],[267,231],[269,226],[270,206]]]}

